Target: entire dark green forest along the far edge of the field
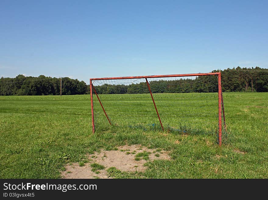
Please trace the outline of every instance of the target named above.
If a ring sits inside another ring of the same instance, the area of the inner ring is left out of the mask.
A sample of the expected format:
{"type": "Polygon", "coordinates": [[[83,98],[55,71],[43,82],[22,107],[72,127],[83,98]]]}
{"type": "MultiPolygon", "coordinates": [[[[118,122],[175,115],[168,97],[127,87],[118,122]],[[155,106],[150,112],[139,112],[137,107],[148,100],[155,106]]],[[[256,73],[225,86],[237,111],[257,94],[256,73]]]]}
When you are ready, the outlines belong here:
{"type": "MultiPolygon", "coordinates": [[[[212,72],[219,72],[213,70],[212,72]]],[[[268,68],[227,68],[221,71],[223,92],[268,92],[268,68]]],[[[217,77],[199,76],[196,79],[151,81],[152,93],[217,92],[217,77]]],[[[88,94],[89,85],[84,81],[62,78],[62,95],[88,94]]],[[[149,93],[146,83],[131,85],[97,85],[97,93],[149,93]]],[[[59,95],[60,79],[40,75],[17,75],[0,79],[0,95],[59,95]]]]}

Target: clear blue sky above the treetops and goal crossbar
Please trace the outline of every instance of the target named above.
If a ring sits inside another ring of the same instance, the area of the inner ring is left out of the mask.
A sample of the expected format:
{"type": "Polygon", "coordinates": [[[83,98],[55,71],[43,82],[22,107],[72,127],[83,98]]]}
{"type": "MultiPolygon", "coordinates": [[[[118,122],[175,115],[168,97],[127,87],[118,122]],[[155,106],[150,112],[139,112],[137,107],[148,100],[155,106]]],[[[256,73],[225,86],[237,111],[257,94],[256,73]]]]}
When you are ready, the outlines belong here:
{"type": "Polygon", "coordinates": [[[268,1],[0,1],[0,76],[268,68],[268,1]]]}

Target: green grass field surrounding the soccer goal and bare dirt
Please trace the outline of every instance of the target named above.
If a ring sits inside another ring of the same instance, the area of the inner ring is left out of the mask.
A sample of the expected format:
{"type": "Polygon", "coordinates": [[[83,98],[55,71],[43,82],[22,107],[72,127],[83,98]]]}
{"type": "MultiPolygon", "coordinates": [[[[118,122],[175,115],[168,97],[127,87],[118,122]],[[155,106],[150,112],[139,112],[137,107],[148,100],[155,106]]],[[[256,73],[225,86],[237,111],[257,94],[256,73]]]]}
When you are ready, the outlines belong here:
{"type": "Polygon", "coordinates": [[[170,151],[172,159],[155,160],[143,173],[116,173],[115,178],[268,178],[267,93],[223,94],[230,133],[221,148],[214,132],[217,104],[216,111],[206,109],[214,105],[209,99],[215,95],[168,95],[170,100],[166,94],[154,94],[165,132],[157,126],[148,94],[102,96],[114,126],[108,126],[95,99],[94,135],[89,95],[0,96],[0,178],[59,178],[66,163],[82,162],[86,153],[126,143],[170,151]],[[184,103],[183,112],[176,107],[179,102],[184,103]],[[191,121],[194,128],[190,122],[178,127],[177,115],[194,116],[189,104],[198,104],[203,112],[191,121]]]}

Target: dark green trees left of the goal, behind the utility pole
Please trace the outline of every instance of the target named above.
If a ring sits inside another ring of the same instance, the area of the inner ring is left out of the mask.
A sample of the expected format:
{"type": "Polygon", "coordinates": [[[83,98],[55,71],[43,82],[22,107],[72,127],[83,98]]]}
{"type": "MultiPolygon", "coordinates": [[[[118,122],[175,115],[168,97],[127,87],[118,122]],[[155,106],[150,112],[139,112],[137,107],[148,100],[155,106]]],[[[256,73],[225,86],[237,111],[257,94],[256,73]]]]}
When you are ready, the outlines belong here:
{"type": "MultiPolygon", "coordinates": [[[[62,78],[62,95],[85,94],[86,83],[68,77],[62,78]]],[[[15,78],[0,79],[0,95],[60,95],[60,78],[44,75],[38,77],[17,75],[15,78]]]]}

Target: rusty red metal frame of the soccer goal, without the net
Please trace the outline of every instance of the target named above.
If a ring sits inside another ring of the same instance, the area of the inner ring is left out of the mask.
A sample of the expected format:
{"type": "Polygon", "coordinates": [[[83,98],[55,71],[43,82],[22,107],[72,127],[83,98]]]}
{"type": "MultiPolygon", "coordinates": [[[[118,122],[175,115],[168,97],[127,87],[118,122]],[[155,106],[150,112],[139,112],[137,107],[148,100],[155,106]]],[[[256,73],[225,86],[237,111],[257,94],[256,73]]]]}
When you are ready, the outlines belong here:
{"type": "MultiPolygon", "coordinates": [[[[157,113],[157,116],[158,116],[158,119],[160,121],[160,125],[162,127],[162,130],[164,131],[164,128],[163,128],[163,125],[162,125],[162,122],[161,122],[161,119],[160,119],[160,116],[158,114],[158,111],[157,111],[157,107],[155,105],[155,102],[154,102],[154,99],[153,99],[153,94],[151,92],[151,89],[150,89],[150,85],[149,85],[149,82],[147,81],[147,78],[169,78],[169,77],[187,77],[187,76],[208,76],[208,75],[216,75],[218,77],[218,109],[219,109],[219,121],[218,121],[218,141],[219,141],[219,146],[221,146],[221,137],[222,137],[222,112],[223,112],[223,118],[224,118],[224,129],[226,130],[226,123],[225,123],[225,114],[224,114],[224,106],[223,106],[223,97],[222,97],[222,89],[221,89],[221,73],[220,72],[213,72],[213,73],[198,73],[198,74],[173,74],[173,75],[150,75],[150,76],[125,76],[125,77],[110,77],[110,78],[93,78],[93,79],[90,79],[90,101],[91,101],[91,118],[92,118],[92,131],[93,131],[93,134],[95,133],[95,124],[94,124],[94,112],[93,112],[93,91],[94,93],[96,94],[97,96],[97,99],[98,101],[100,102],[101,104],[101,100],[99,99],[98,97],[98,94],[92,84],[92,81],[93,80],[116,80],[116,79],[145,79],[146,80],[146,83],[147,83],[147,86],[148,86],[148,89],[149,89],[149,92],[151,94],[151,97],[152,97],[152,100],[153,100],[153,104],[154,104],[154,107],[155,107],[155,110],[156,110],[156,113],[157,113]]],[[[108,118],[108,115],[103,107],[103,105],[101,104],[101,107],[104,111],[104,114],[106,116],[106,118],[108,119],[110,125],[111,124],[111,121],[110,119],[108,118]]]]}

